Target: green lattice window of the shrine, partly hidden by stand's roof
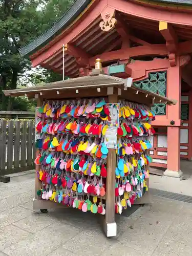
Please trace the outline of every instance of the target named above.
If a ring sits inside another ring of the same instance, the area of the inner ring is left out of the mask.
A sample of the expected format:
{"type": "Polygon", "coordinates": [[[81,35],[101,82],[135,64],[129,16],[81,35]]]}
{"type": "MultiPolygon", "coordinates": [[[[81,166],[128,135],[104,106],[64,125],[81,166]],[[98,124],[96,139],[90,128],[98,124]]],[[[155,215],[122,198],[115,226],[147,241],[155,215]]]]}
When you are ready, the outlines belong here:
{"type": "MultiPolygon", "coordinates": [[[[148,78],[134,82],[134,86],[166,97],[166,71],[151,72],[148,78]]],[[[156,115],[166,114],[165,104],[154,104],[152,109],[156,115]]]]}

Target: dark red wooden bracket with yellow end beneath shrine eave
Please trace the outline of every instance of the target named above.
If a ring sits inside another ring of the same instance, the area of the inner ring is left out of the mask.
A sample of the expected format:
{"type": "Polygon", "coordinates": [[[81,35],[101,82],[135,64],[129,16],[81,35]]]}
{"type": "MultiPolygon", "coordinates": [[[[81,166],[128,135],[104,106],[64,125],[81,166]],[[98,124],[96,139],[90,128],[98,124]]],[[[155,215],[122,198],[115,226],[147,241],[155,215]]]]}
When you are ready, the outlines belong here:
{"type": "Polygon", "coordinates": [[[166,40],[168,59],[171,67],[177,65],[178,37],[172,25],[159,22],[159,31],[166,40]]]}

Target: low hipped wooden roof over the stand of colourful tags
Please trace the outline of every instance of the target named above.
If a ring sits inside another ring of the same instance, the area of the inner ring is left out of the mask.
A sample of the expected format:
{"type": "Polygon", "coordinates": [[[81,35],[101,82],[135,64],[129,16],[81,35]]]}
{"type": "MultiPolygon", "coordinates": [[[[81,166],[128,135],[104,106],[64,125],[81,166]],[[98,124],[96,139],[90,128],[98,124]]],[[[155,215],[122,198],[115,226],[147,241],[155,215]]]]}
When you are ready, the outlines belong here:
{"type": "MultiPolygon", "coordinates": [[[[109,87],[113,87],[122,99],[143,103],[167,103],[176,104],[177,101],[162,97],[158,94],[144,91],[130,84],[129,78],[122,79],[104,74],[89,75],[63,81],[44,84],[44,86],[28,87],[25,89],[4,90],[6,96],[29,98],[42,97],[44,99],[67,99],[83,97],[107,96],[109,87]],[[99,90],[98,90],[99,88],[99,90]],[[119,90],[121,89],[121,90],[119,90]],[[40,95],[40,96],[39,96],[40,95]]],[[[115,91],[114,91],[115,93],[115,91]]]]}

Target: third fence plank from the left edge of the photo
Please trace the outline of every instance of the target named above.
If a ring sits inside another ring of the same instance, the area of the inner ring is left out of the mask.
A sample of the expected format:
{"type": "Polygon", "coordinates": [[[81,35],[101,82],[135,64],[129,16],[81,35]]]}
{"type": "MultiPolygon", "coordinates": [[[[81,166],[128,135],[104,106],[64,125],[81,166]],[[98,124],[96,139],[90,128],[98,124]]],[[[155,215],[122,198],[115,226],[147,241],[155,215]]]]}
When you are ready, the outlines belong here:
{"type": "Polygon", "coordinates": [[[20,121],[15,121],[15,136],[14,136],[14,167],[19,167],[20,158],[20,121]]]}

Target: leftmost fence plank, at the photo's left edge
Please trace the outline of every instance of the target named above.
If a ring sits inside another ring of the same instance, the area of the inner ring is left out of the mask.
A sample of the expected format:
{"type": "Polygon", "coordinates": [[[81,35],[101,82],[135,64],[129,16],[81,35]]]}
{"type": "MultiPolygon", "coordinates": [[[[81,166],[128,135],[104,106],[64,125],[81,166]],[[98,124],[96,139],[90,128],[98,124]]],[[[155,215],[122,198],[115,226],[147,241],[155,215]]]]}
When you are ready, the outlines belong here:
{"type": "Polygon", "coordinates": [[[5,170],[6,166],[6,139],[7,139],[7,121],[1,120],[0,135],[0,170],[5,170]]]}

